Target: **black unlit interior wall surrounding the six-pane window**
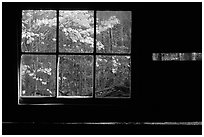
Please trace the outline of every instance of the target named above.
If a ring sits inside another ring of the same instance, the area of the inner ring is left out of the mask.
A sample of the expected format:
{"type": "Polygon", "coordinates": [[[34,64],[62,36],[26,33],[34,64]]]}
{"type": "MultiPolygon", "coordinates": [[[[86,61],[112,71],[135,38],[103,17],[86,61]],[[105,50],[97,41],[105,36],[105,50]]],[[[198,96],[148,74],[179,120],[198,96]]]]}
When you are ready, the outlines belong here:
{"type": "Polygon", "coordinates": [[[3,3],[2,8],[3,122],[202,120],[202,63],[152,61],[152,53],[202,52],[202,3],[3,3]],[[17,104],[21,10],[57,8],[132,11],[131,99],[17,104]]]}

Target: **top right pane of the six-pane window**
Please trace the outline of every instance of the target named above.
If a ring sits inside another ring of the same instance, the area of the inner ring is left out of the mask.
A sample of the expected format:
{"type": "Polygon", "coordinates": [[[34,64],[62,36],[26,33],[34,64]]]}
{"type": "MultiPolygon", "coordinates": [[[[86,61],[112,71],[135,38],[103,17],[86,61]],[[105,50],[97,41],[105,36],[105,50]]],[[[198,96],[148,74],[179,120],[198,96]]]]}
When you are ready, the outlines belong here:
{"type": "Polygon", "coordinates": [[[99,53],[131,52],[131,11],[97,11],[96,46],[99,53]]]}

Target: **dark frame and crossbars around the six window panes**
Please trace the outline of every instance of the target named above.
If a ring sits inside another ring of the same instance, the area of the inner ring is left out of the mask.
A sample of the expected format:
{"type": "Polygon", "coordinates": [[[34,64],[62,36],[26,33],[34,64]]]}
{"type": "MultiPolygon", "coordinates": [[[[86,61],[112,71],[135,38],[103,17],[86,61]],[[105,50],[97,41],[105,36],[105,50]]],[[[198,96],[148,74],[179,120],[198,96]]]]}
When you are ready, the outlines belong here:
{"type": "MultiPolygon", "coordinates": [[[[21,22],[22,22],[22,11],[23,10],[47,10],[47,9],[22,9],[21,10],[21,22]]],[[[86,103],[86,104],[92,104],[93,102],[94,103],[99,103],[99,104],[104,104],[104,99],[107,101],[107,103],[109,102],[122,102],[123,101],[127,101],[127,100],[131,100],[132,98],[132,92],[131,92],[131,83],[132,83],[132,80],[131,80],[131,77],[130,77],[130,96],[129,97],[95,97],[95,78],[96,78],[96,57],[97,56],[129,56],[130,57],[130,64],[131,64],[131,59],[132,59],[132,11],[131,10],[128,10],[131,12],[131,47],[130,47],[130,52],[128,53],[100,53],[98,52],[97,53],[97,47],[96,47],[96,17],[97,17],[97,11],[103,11],[103,10],[97,10],[97,9],[79,9],[79,10],[90,10],[90,11],[94,11],[94,47],[93,47],[93,52],[90,52],[90,53],[76,53],[76,52],[59,52],[59,12],[60,10],[63,10],[63,11],[66,11],[66,10],[78,10],[78,9],[49,9],[49,10],[54,10],[56,11],[56,51],[55,52],[23,52],[21,50],[21,40],[20,40],[20,44],[18,47],[18,52],[20,54],[18,54],[18,58],[19,58],[19,71],[18,71],[18,105],[28,105],[28,104],[32,104],[32,105],[66,105],[66,104],[83,104],[83,103],[86,103]],[[55,76],[56,76],[56,79],[55,79],[55,90],[56,90],[56,94],[54,97],[50,97],[50,96],[21,96],[21,86],[22,86],[22,81],[21,81],[21,57],[23,55],[53,55],[55,56],[56,58],[56,72],[55,72],[55,76]],[[73,97],[73,96],[70,96],[70,97],[64,97],[64,96],[58,96],[58,71],[59,71],[59,58],[60,58],[60,55],[66,55],[66,56],[69,56],[69,55],[90,55],[93,57],[93,90],[92,90],[92,96],[89,96],[89,97],[84,97],[84,96],[78,96],[78,97],[73,97]]],[[[115,10],[109,10],[109,11],[115,11],[115,10]]],[[[116,10],[117,11],[117,10],[116,10]]],[[[125,10],[122,10],[122,11],[125,11],[125,10]]],[[[21,23],[22,24],[22,23],[21,23]]],[[[20,26],[20,35],[22,36],[22,25],[20,26]]],[[[131,67],[132,67],[132,64],[130,65],[130,70],[131,70],[131,67]]],[[[130,71],[131,72],[131,71],[130,71]]]]}

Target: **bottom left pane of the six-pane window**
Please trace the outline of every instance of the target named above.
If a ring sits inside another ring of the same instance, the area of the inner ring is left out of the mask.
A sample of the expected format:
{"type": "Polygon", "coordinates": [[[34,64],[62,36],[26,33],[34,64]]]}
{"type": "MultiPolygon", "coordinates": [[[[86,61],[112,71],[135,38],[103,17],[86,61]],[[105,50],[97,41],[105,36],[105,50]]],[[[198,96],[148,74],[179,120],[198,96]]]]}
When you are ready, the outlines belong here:
{"type": "Polygon", "coordinates": [[[56,57],[23,55],[21,58],[21,96],[55,96],[56,57]]]}

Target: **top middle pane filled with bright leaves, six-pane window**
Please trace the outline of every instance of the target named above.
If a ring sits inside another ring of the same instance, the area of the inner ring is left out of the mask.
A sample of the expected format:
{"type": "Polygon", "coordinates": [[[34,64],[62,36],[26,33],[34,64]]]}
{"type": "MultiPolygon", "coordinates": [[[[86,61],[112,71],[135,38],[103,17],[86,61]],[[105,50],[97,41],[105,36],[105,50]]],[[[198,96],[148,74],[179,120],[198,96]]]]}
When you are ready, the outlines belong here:
{"type": "Polygon", "coordinates": [[[94,11],[59,11],[59,51],[90,53],[94,47],[94,11]]]}

